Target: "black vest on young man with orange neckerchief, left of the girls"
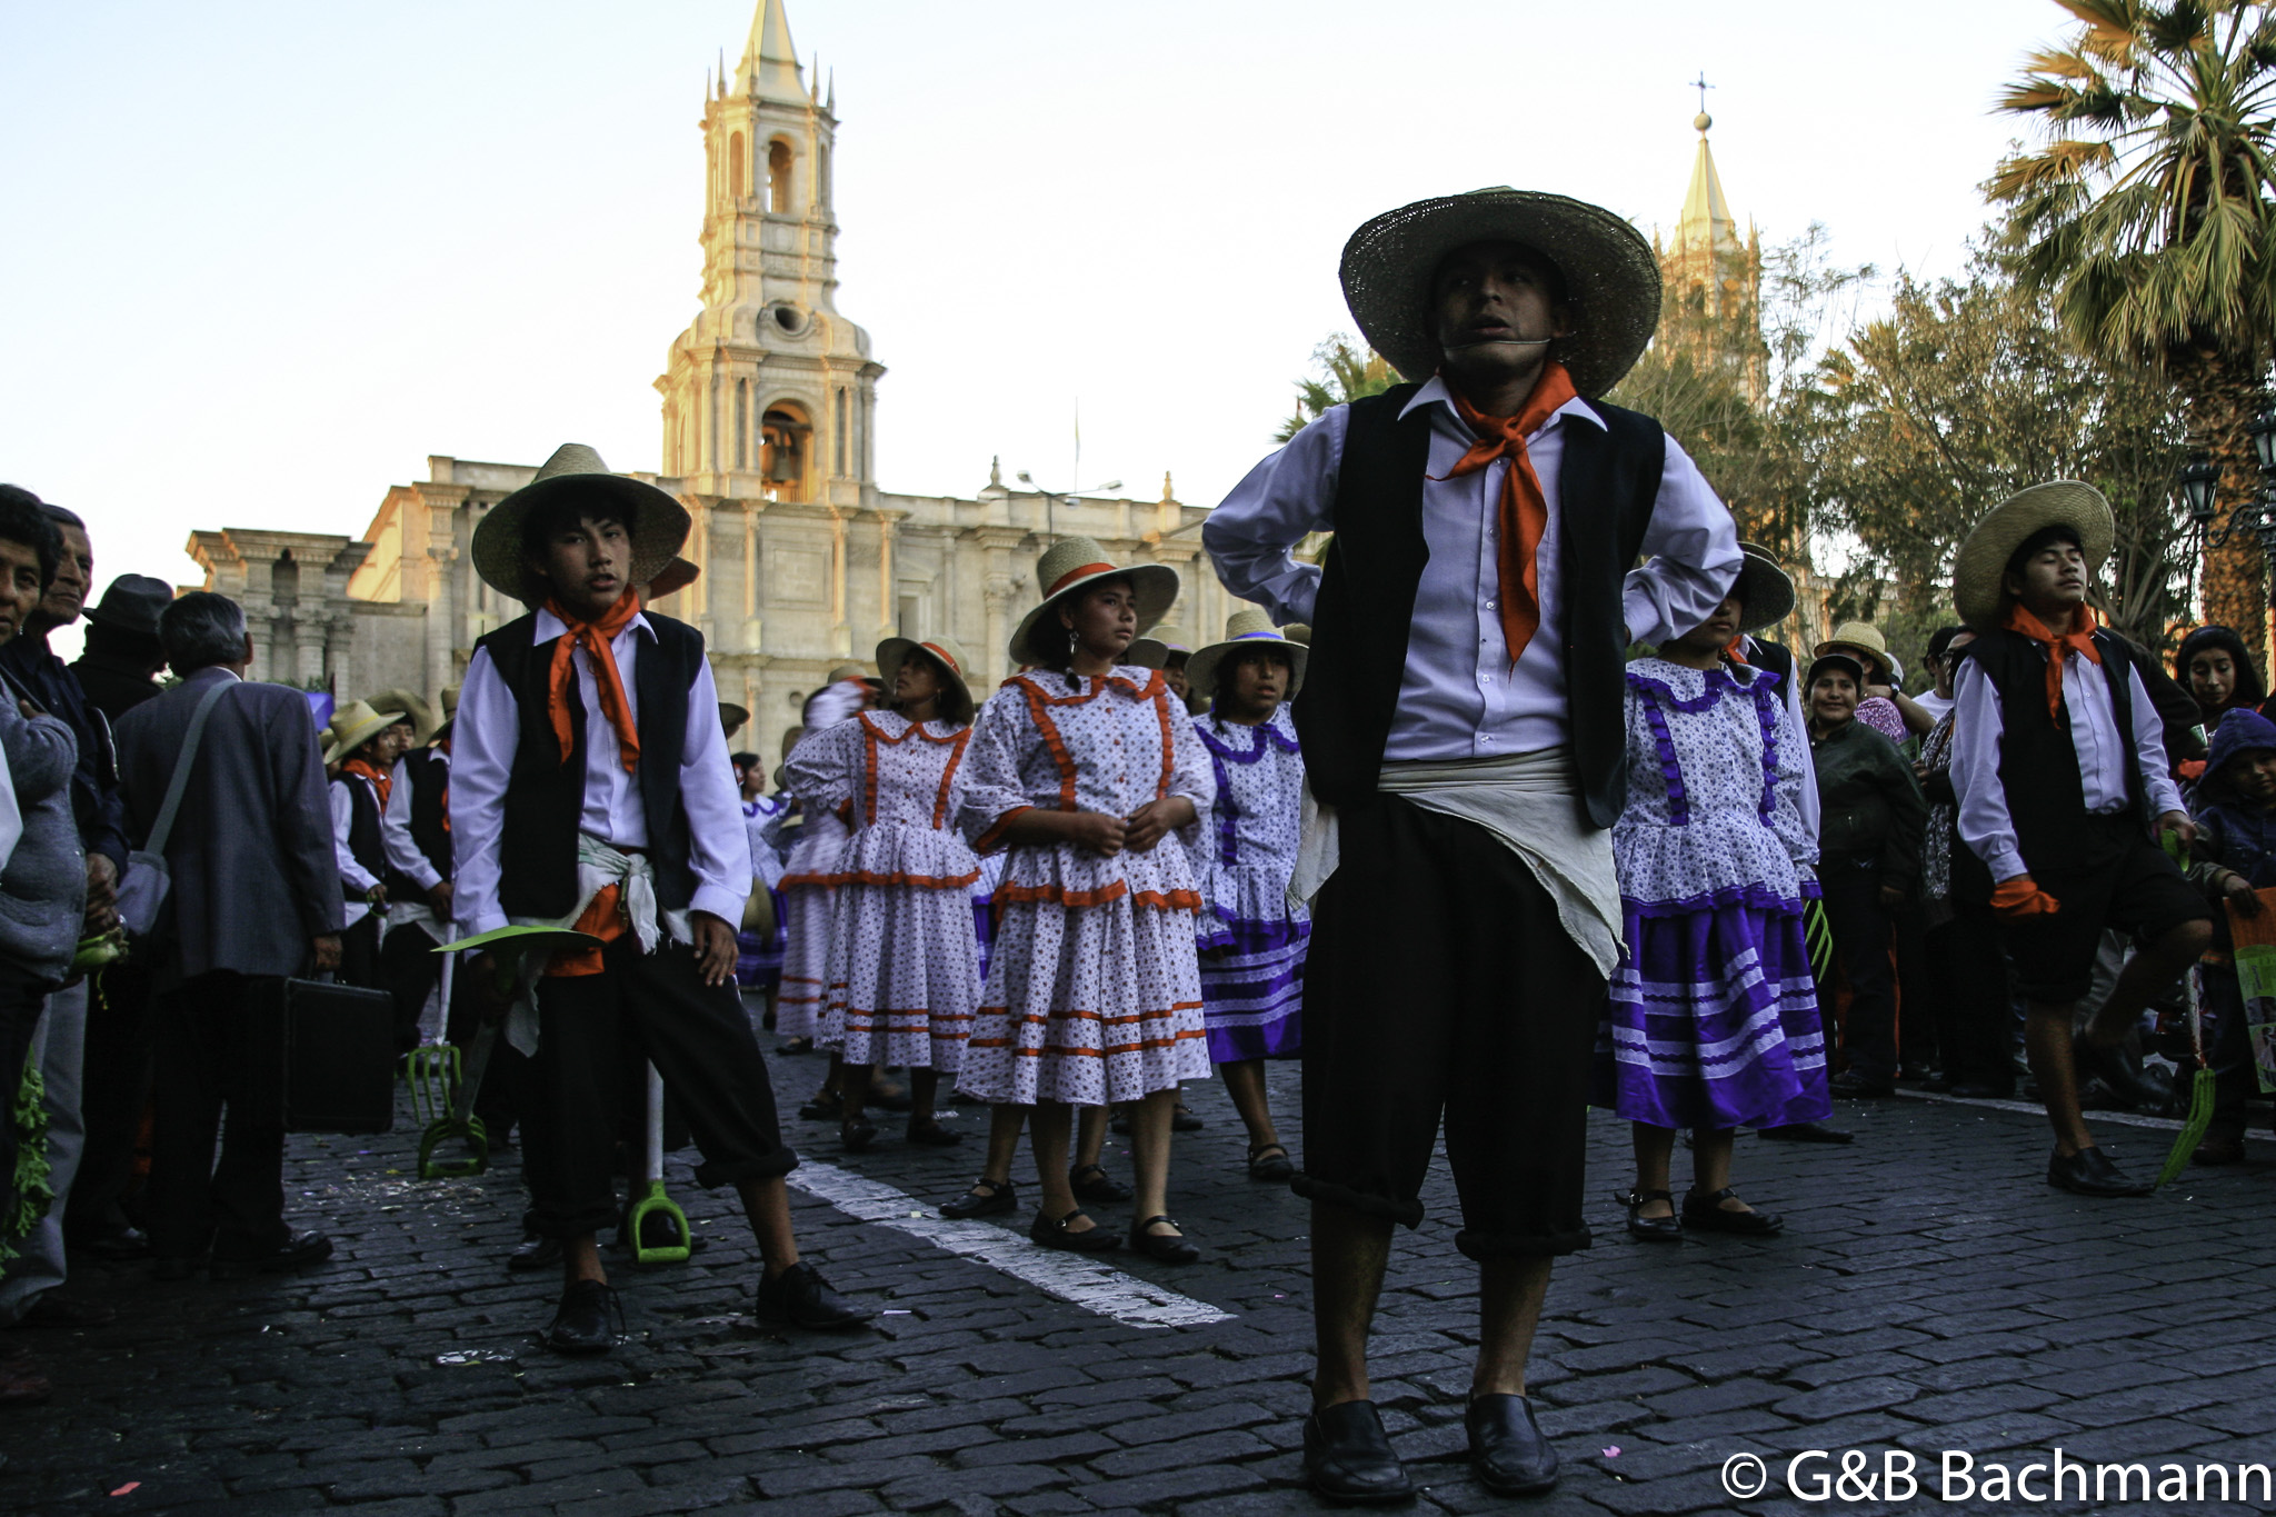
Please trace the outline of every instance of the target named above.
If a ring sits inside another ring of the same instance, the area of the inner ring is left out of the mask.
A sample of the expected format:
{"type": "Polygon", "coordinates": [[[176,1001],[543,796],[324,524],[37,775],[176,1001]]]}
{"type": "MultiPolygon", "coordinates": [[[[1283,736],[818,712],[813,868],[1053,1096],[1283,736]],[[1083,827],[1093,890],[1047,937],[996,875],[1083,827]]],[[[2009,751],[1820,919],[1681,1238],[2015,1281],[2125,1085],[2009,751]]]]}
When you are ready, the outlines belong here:
{"type": "MultiPolygon", "coordinates": [[[[649,819],[649,862],[655,903],[681,910],[694,898],[687,867],[687,807],[681,803],[681,753],[687,746],[687,689],[703,666],[703,635],[685,621],[642,612],[655,641],[633,662],[633,705],[640,710],[640,769],[635,785],[649,819]]],[[[585,812],[585,678],[569,666],[569,753],[562,755],[546,710],[553,644],[533,644],[537,616],[517,616],[485,637],[489,662],[514,691],[521,737],[505,780],[505,821],[498,837],[498,907],[508,917],[564,917],[576,905],[576,837],[585,812]]]]}

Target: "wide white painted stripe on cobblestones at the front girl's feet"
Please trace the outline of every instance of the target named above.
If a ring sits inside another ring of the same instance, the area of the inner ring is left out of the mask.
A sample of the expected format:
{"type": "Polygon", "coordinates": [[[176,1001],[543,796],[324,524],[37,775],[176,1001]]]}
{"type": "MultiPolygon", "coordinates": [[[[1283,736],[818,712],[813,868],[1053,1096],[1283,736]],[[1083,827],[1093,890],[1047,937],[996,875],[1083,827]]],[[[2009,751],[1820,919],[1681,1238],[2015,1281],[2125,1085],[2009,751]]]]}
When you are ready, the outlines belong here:
{"type": "Polygon", "coordinates": [[[851,1169],[799,1160],[799,1167],[783,1178],[808,1196],[828,1201],[849,1217],[922,1237],[935,1249],[1001,1269],[1017,1280],[1052,1292],[1061,1301],[1072,1301],[1086,1312],[1113,1317],[1133,1328],[1199,1328],[1211,1321],[1231,1321],[1234,1317],[1206,1301],[1181,1296],[1174,1290],[1163,1290],[1138,1276],[1099,1265],[1092,1255],[1042,1249],[1017,1233],[1006,1233],[986,1221],[940,1217],[924,1201],[892,1185],[867,1180],[851,1169]]]}

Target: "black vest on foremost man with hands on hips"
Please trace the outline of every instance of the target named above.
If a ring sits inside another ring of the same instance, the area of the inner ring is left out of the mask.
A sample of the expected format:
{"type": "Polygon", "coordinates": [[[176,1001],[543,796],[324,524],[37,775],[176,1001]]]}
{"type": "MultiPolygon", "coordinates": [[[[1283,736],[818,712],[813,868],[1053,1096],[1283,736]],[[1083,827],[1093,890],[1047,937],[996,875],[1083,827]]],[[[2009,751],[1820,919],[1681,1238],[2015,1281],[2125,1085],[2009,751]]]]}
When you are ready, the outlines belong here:
{"type": "MultiPolygon", "coordinates": [[[[1429,546],[1422,537],[1427,407],[1404,421],[1418,387],[1352,403],[1336,482],[1336,534],[1311,621],[1311,664],[1295,698],[1311,791],[1327,805],[1375,796],[1407,675],[1407,632],[1429,546]]],[[[1627,798],[1621,678],[1627,637],[1621,587],[1643,550],[1659,498],[1666,432],[1650,416],[1591,400],[1605,430],[1568,423],[1557,509],[1561,625],[1573,760],[1589,821],[1609,828],[1627,798]]]]}

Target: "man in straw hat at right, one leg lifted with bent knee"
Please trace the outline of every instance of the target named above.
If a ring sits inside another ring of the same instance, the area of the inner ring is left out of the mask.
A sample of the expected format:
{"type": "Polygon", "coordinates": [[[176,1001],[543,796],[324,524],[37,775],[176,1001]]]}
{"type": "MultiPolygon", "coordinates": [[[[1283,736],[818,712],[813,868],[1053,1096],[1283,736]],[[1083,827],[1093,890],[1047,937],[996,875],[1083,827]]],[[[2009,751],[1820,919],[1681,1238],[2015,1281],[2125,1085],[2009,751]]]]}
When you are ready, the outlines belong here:
{"type": "Polygon", "coordinates": [[[2117,523],[2078,480],[2032,484],[1976,523],[1953,562],[1953,607],[1976,632],[1953,687],[1953,892],[1991,903],[2023,994],[2023,1044],[2055,1155],[2046,1183],[2146,1196],[2078,1112],[2071,1012],[2105,928],[2142,944],[2094,1012],[2119,1042],[2212,944],[2212,914],[2153,842],[2196,837],[2167,776],[2164,732],[2135,650],[2103,632],[2087,589],[2117,523]]]}

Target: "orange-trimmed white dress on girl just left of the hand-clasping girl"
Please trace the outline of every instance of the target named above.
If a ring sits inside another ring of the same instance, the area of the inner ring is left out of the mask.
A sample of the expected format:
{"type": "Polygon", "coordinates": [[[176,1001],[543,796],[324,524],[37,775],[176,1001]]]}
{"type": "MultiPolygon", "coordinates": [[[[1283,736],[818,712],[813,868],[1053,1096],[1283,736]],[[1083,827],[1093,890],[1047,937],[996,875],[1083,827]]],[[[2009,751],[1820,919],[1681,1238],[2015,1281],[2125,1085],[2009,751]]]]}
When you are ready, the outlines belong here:
{"type": "Polygon", "coordinates": [[[828,869],[831,935],[815,1042],[849,1064],[954,1073],[981,998],[972,887],[951,828],[972,728],[865,712],[799,744],[790,780],[851,835],[828,869]]]}

